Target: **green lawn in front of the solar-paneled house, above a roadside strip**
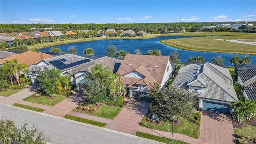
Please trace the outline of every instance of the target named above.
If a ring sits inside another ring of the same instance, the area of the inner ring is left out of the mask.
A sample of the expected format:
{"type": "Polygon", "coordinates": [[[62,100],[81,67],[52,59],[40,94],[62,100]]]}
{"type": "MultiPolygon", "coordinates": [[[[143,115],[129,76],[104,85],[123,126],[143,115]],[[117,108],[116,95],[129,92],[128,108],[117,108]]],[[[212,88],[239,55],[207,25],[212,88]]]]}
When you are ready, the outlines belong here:
{"type": "Polygon", "coordinates": [[[48,106],[54,106],[55,104],[58,104],[62,100],[66,98],[66,96],[58,95],[58,94],[53,94],[52,96],[56,96],[53,99],[48,99],[47,96],[41,96],[39,98],[32,98],[31,96],[28,96],[27,98],[24,98],[23,100],[28,101],[28,102],[34,102],[38,104],[45,104],[48,106]]]}

